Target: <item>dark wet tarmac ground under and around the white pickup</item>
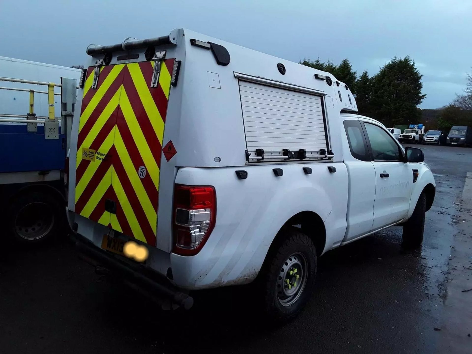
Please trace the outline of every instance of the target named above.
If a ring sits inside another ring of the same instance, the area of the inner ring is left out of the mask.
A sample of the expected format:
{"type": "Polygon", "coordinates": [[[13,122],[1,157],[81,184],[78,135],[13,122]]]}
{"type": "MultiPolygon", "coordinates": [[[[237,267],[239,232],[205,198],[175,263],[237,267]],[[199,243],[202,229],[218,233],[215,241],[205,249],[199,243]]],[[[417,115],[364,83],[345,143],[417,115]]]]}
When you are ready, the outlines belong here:
{"type": "MultiPolygon", "coordinates": [[[[326,253],[312,300],[286,326],[254,315],[251,287],[200,292],[191,311],[162,312],[56,242],[0,256],[0,353],[444,352],[451,250],[458,229],[472,234],[459,199],[472,149],[421,148],[437,183],[422,249],[404,252],[394,227],[326,253]]],[[[469,262],[472,279],[468,256],[454,264],[467,272],[469,262]]],[[[472,318],[464,326],[466,340],[472,318]]],[[[455,350],[472,353],[469,339],[455,350]]]]}

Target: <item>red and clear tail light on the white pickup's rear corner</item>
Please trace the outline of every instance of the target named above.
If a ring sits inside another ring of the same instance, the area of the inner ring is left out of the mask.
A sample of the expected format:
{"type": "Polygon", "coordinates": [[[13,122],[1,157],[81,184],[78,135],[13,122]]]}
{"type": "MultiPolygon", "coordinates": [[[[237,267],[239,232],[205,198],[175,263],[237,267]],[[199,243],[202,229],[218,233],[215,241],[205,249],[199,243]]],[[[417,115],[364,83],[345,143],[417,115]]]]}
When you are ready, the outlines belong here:
{"type": "Polygon", "coordinates": [[[214,187],[176,185],[173,252],[184,256],[200,252],[215,226],[215,219],[214,187]]]}

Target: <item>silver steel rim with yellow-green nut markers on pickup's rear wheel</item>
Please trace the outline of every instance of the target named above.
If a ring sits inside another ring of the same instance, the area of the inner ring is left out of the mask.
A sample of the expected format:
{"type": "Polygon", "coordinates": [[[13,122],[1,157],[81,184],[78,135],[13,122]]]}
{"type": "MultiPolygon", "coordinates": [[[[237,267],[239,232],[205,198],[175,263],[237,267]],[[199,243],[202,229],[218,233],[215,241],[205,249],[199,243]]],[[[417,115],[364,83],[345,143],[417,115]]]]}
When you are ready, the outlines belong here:
{"type": "Polygon", "coordinates": [[[295,303],[306,285],[307,261],[302,253],[291,254],[280,267],[277,277],[277,298],[282,306],[295,303]]]}

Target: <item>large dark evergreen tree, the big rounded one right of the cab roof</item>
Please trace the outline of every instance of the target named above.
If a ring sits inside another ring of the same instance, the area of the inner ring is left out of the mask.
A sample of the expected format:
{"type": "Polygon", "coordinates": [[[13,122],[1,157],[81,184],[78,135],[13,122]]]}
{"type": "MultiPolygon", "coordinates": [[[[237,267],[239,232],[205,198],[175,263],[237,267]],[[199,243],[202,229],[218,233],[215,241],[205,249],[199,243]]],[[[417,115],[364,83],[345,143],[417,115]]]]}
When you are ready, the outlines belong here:
{"type": "Polygon", "coordinates": [[[416,109],[426,97],[421,93],[422,75],[410,57],[393,58],[372,77],[370,107],[374,118],[388,126],[415,124],[421,118],[416,109]]]}

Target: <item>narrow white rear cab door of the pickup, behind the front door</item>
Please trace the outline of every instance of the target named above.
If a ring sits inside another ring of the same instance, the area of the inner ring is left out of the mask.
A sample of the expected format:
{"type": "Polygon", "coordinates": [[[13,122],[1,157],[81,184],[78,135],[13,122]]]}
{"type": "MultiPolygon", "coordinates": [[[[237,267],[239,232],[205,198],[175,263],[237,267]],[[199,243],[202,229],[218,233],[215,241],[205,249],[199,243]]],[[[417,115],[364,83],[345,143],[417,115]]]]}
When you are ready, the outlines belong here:
{"type": "Polygon", "coordinates": [[[346,242],[371,231],[376,177],[361,122],[358,118],[345,120],[344,129],[347,144],[343,136],[343,157],[349,174],[346,242]]]}

